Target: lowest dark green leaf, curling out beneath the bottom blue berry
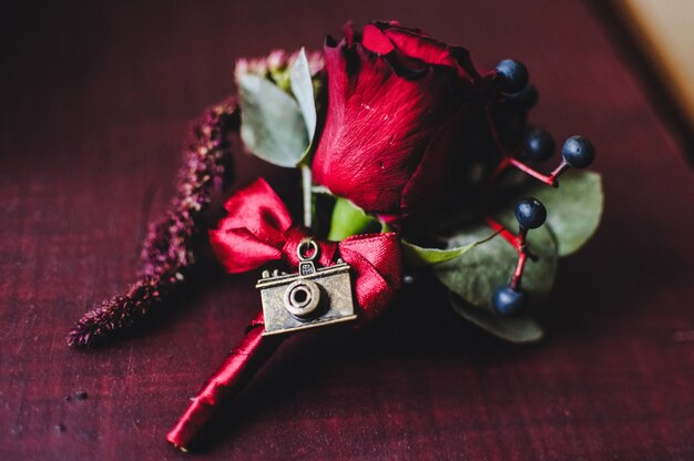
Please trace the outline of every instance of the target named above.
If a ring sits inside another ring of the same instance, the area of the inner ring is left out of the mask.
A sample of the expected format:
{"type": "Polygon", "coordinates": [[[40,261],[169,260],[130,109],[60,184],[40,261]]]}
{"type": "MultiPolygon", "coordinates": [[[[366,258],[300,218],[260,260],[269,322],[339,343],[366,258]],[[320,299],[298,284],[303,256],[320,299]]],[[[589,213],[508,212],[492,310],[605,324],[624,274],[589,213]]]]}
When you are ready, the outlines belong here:
{"type": "Polygon", "coordinates": [[[501,339],[510,342],[527,344],[539,341],[544,336],[542,327],[532,318],[500,317],[466,303],[453,293],[449,297],[456,313],[501,339]]]}

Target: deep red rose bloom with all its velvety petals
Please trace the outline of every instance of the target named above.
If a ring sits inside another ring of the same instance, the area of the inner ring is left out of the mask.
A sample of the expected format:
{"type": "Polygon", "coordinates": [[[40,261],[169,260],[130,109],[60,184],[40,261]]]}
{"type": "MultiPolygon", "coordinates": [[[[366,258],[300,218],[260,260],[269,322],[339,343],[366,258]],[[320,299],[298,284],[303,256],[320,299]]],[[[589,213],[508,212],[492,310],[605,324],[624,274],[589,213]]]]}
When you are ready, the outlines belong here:
{"type": "Polygon", "coordinates": [[[465,121],[489,85],[469,53],[397,22],[325,44],[328,104],[314,178],[368,213],[430,207],[462,156],[465,121]]]}

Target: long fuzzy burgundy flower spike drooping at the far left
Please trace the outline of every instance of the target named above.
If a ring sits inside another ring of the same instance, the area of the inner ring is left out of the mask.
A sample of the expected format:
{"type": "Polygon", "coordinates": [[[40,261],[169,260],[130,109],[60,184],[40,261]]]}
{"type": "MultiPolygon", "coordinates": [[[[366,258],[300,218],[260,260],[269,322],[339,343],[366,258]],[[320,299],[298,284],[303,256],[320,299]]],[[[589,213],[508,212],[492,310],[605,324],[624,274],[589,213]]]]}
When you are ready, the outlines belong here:
{"type": "Polygon", "coordinates": [[[195,262],[194,242],[205,228],[215,195],[233,182],[229,135],[239,124],[236,98],[208,107],[193,126],[178,171],[176,195],[153,225],[142,246],[137,280],[86,313],[73,326],[68,345],[89,347],[141,322],[185,279],[195,262]]]}

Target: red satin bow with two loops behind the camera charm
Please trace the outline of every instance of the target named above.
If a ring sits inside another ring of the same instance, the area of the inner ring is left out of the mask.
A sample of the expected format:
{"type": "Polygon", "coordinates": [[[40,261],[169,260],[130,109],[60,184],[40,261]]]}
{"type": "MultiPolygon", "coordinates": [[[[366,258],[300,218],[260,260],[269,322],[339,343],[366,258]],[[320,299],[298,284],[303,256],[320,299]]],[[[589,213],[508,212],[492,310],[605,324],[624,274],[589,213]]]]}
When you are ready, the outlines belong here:
{"type": "MultiPolygon", "coordinates": [[[[292,223],[284,202],[265,180],[238,191],[224,208],[228,215],[210,230],[210,243],[228,273],[244,273],[278,259],[293,268],[298,266],[297,247],[309,234],[292,223]]],[[[320,265],[341,257],[351,266],[358,306],[367,318],[377,316],[400,286],[397,235],[356,235],[340,243],[315,240],[320,265]]]]}

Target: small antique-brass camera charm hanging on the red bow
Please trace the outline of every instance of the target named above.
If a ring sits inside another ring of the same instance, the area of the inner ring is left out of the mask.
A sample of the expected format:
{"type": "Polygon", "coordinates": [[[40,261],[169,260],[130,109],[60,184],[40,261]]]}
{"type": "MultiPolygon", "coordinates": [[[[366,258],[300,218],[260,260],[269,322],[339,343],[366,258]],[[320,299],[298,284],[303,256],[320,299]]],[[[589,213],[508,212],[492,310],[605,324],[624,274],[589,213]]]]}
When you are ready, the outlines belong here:
{"type": "Polygon", "coordinates": [[[298,274],[263,272],[255,285],[261,290],[265,332],[277,335],[357,318],[351,296],[349,265],[341,259],[316,269],[319,247],[313,239],[302,242],[296,253],[298,274]],[[313,249],[310,256],[306,250],[313,249]]]}

